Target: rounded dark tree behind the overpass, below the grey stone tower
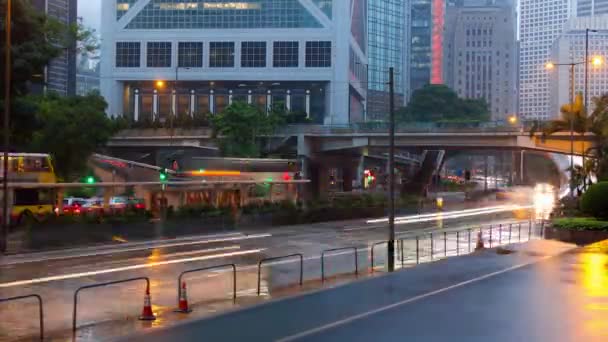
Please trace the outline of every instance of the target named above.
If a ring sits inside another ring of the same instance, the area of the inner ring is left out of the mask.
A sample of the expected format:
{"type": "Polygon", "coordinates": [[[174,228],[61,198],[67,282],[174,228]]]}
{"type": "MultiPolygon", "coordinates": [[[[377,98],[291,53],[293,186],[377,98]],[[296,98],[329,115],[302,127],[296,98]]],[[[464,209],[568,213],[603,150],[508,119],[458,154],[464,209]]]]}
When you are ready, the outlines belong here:
{"type": "Polygon", "coordinates": [[[430,84],[414,91],[397,117],[404,122],[488,121],[490,110],[483,99],[461,99],[445,85],[430,84]]]}

